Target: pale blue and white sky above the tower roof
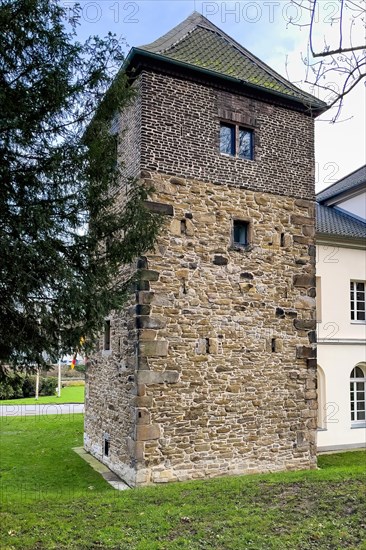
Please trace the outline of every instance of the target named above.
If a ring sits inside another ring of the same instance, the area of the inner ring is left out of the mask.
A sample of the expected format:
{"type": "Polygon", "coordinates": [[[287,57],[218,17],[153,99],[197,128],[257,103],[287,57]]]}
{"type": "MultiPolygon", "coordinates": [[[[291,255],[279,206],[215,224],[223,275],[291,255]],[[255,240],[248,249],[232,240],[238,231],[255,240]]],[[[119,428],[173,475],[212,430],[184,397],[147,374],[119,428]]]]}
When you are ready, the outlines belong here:
{"type": "MultiPolygon", "coordinates": [[[[361,6],[362,0],[355,2],[361,6]]],[[[65,7],[73,4],[71,0],[60,3],[65,7]]],[[[156,40],[193,11],[198,11],[281,75],[311,91],[304,84],[306,68],[302,60],[307,51],[308,27],[303,25],[308,21],[308,14],[288,0],[79,0],[79,3],[82,8],[79,39],[84,40],[89,35],[105,36],[111,31],[125,39],[126,53],[132,46],[156,40]],[[291,19],[295,24],[291,24],[291,19]]],[[[315,46],[322,46],[324,36],[332,46],[337,45],[339,14],[339,0],[319,0],[315,46]]],[[[350,29],[347,28],[346,15],[344,41],[349,45],[350,29]]],[[[352,37],[354,43],[364,42],[362,25],[353,28],[352,37]]],[[[330,78],[337,85],[334,75],[330,78]]],[[[324,99],[318,90],[312,93],[324,99]]],[[[365,106],[365,86],[361,83],[345,98],[337,123],[329,122],[332,114],[329,112],[316,121],[317,191],[366,163],[365,106]]]]}

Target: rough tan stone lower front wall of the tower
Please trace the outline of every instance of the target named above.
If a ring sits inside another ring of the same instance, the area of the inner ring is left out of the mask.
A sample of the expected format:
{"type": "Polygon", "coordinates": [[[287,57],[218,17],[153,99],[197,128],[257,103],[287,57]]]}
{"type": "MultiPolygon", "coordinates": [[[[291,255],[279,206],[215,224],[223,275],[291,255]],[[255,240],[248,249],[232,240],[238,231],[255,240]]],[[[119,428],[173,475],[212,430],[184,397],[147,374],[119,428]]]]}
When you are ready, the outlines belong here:
{"type": "Polygon", "coordinates": [[[174,216],[138,294],[137,483],[315,467],[313,202],[143,175],[174,216]]]}

